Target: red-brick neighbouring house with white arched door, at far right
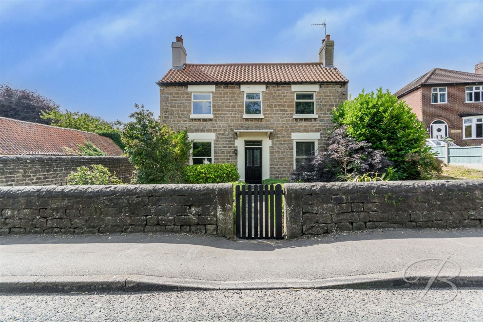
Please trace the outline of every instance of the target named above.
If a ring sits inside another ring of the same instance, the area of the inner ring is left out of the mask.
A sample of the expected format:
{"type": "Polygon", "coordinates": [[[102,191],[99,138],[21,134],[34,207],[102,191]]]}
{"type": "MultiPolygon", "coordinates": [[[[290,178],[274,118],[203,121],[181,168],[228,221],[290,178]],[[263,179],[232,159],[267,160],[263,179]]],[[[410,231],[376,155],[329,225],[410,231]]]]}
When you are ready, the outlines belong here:
{"type": "Polygon", "coordinates": [[[483,143],[483,63],[475,73],[434,68],[394,95],[412,108],[430,138],[458,145],[483,143]]]}

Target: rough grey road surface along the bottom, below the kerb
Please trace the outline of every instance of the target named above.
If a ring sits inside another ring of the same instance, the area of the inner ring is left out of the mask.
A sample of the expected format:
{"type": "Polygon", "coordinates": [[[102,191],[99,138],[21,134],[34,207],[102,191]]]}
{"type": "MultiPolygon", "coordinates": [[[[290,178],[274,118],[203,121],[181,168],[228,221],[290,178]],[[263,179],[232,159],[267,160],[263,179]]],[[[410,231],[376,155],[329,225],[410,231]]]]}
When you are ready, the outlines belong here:
{"type": "Polygon", "coordinates": [[[0,296],[1,321],[483,321],[483,289],[250,290],[0,296]],[[444,302],[450,290],[425,300],[444,302]]]}

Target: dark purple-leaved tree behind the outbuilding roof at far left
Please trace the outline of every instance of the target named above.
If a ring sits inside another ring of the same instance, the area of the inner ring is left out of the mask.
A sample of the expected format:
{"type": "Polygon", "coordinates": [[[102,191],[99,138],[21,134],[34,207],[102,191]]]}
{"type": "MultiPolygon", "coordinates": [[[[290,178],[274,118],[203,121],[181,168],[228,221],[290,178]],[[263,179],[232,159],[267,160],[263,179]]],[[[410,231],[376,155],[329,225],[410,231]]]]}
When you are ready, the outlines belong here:
{"type": "Polygon", "coordinates": [[[0,84],[0,116],[20,121],[49,124],[40,118],[42,110],[58,111],[59,105],[49,98],[26,89],[0,84]]]}

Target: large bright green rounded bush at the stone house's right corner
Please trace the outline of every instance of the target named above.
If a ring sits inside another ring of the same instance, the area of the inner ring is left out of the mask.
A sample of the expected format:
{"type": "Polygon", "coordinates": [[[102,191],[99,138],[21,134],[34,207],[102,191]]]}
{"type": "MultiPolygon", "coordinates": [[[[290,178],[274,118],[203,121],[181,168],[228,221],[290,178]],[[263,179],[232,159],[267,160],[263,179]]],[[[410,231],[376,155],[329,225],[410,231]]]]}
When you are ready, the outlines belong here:
{"type": "Polygon", "coordinates": [[[387,90],[359,94],[333,111],[336,126],[347,126],[347,134],[357,141],[367,141],[382,150],[395,172],[391,180],[427,179],[441,171],[440,163],[425,145],[422,122],[405,101],[398,101],[387,90]]]}

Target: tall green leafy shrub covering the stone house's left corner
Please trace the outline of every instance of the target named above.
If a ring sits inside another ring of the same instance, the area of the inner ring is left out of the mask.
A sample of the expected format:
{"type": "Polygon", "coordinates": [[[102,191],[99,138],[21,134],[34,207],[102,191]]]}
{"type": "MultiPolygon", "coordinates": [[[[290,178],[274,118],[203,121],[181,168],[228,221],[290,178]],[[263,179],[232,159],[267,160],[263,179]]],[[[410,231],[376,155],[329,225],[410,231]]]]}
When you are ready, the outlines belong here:
{"type": "Polygon", "coordinates": [[[135,104],[122,128],[125,152],[135,165],[137,183],[183,182],[183,168],[190,156],[191,142],[186,131],[175,132],[155,119],[153,112],[135,104]]]}

